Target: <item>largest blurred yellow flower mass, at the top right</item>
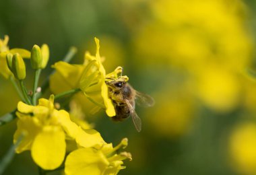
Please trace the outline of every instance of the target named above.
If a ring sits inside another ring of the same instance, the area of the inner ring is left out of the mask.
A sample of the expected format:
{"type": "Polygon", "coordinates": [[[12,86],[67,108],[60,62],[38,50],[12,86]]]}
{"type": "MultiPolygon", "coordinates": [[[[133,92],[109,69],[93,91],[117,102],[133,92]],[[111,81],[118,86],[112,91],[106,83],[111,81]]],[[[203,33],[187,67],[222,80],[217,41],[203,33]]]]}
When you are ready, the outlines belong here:
{"type": "Polygon", "coordinates": [[[153,64],[194,71],[217,63],[241,70],[250,61],[252,40],[237,12],[244,6],[235,2],[154,1],[154,19],[135,38],[137,50],[153,64]]]}

